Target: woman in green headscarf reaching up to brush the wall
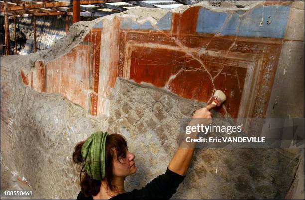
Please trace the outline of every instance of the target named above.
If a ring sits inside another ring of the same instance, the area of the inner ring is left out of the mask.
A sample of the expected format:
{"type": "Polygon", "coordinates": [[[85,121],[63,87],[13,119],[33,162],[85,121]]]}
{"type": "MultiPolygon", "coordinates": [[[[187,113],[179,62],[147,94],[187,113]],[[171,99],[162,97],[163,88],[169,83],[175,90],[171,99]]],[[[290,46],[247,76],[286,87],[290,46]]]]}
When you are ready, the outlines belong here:
{"type": "MultiPolygon", "coordinates": [[[[209,124],[209,110],[214,106],[211,104],[197,110],[190,124],[198,124],[195,119],[207,119],[204,123],[209,124]]],[[[192,137],[196,136],[197,133],[192,137]]],[[[193,152],[194,146],[182,148],[180,145],[165,174],[154,178],[140,190],[126,192],[124,180],[137,170],[135,155],[128,151],[127,143],[121,135],[93,133],[86,141],[78,143],[73,152],[73,161],[82,164],[81,191],[77,199],[169,199],[183,181],[193,152]]]]}

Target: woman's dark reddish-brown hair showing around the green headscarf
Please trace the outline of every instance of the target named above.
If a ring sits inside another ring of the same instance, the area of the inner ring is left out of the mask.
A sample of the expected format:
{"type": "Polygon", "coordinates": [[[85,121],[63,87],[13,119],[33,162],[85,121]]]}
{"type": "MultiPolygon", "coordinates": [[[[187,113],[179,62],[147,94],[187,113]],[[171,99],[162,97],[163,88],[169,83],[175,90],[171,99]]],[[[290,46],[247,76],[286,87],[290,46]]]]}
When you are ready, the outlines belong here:
{"type": "MultiPolygon", "coordinates": [[[[87,197],[95,196],[100,192],[101,187],[101,180],[95,180],[90,177],[85,169],[83,162],[83,157],[81,154],[82,146],[85,143],[85,141],[81,141],[78,144],[76,144],[74,152],[73,152],[73,162],[77,164],[81,164],[81,170],[80,170],[80,186],[83,194],[87,197]],[[82,172],[84,172],[82,176],[82,172]]],[[[120,134],[114,133],[109,134],[106,137],[105,142],[105,178],[107,180],[107,186],[110,190],[116,190],[115,186],[111,184],[111,181],[113,179],[113,165],[112,161],[113,159],[116,159],[118,162],[120,158],[126,156],[127,152],[127,143],[124,137],[120,134]],[[116,156],[114,149],[116,149],[116,156]]]]}

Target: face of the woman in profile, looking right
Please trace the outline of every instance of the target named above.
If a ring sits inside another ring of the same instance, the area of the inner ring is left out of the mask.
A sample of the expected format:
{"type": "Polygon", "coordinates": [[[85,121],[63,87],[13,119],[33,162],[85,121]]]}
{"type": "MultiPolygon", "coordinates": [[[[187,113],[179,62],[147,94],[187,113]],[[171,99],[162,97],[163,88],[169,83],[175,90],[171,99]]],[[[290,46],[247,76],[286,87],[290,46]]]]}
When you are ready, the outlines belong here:
{"type": "MultiPolygon", "coordinates": [[[[116,156],[116,151],[115,151],[116,156]]],[[[126,155],[119,159],[118,162],[116,159],[113,160],[113,174],[119,177],[126,177],[128,175],[134,174],[137,170],[135,164],[135,155],[126,151],[126,155]]]]}

